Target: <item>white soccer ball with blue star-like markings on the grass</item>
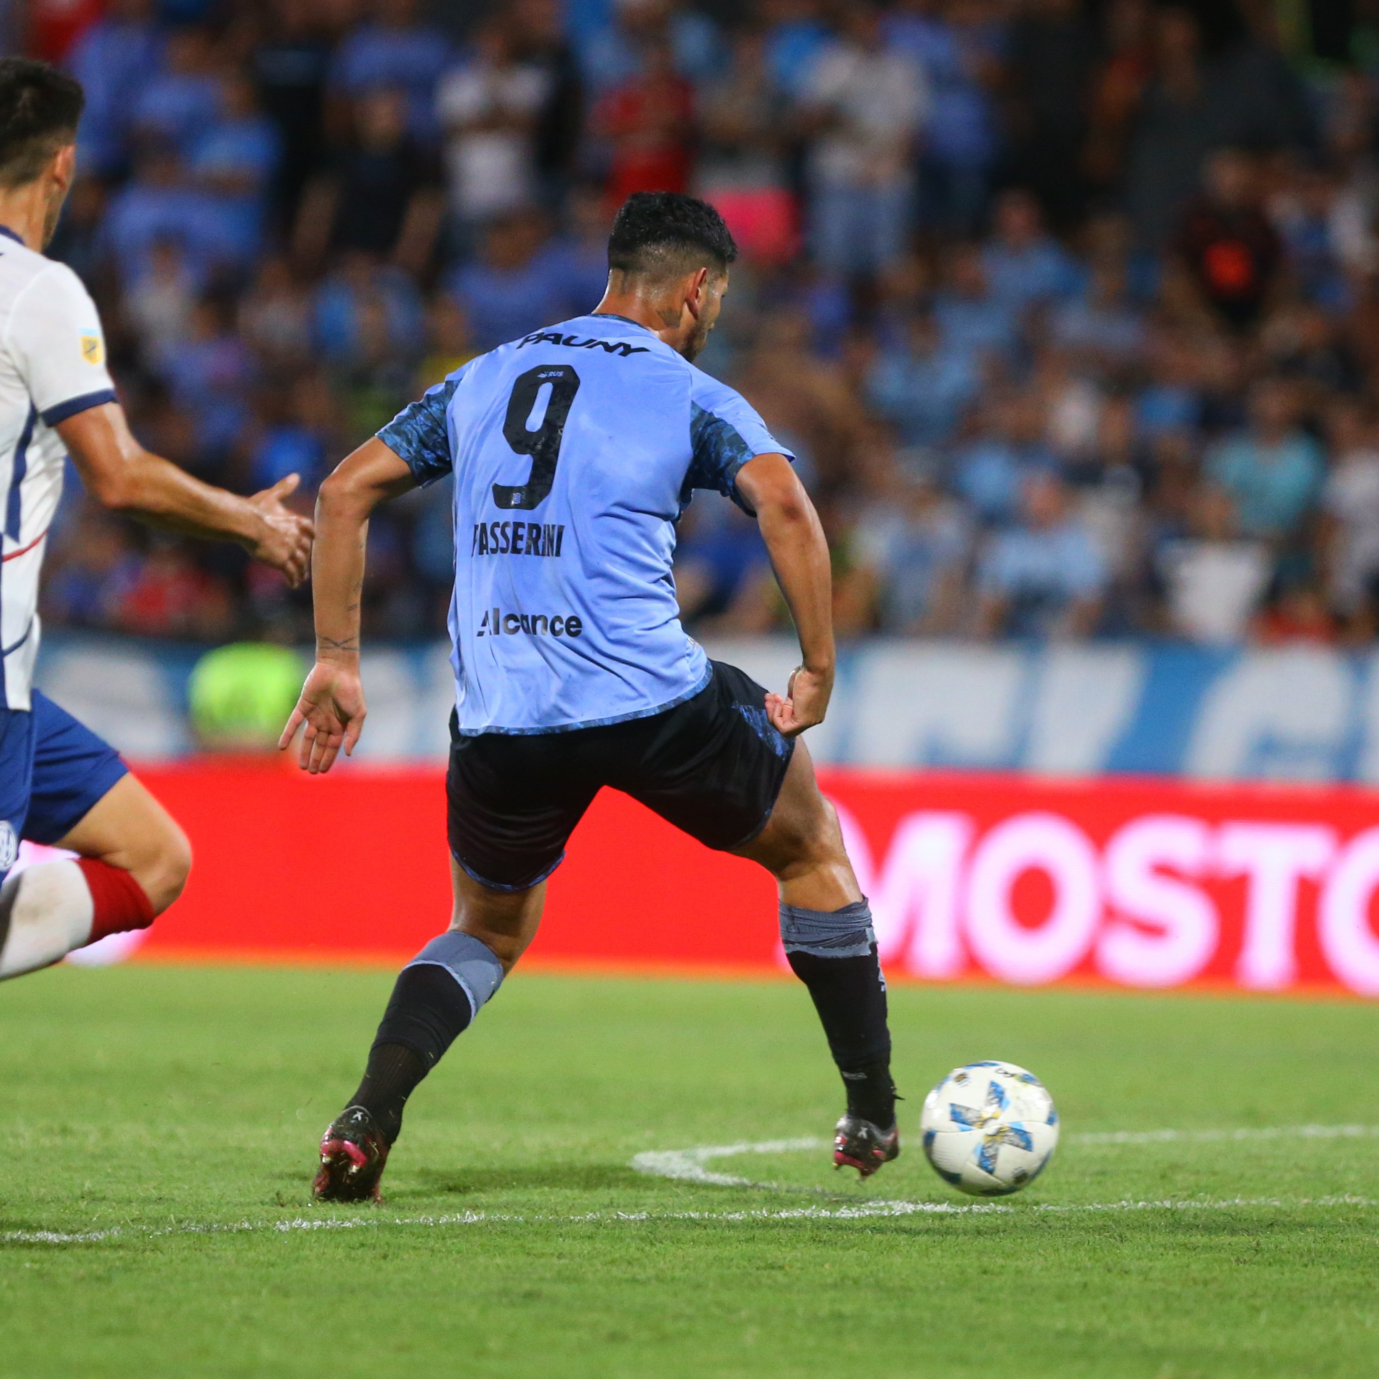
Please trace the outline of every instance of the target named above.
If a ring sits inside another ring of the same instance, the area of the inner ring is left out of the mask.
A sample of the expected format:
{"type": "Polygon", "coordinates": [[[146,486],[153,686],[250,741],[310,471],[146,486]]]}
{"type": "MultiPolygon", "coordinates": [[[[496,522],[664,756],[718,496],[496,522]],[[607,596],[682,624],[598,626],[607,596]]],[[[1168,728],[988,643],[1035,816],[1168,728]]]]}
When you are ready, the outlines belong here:
{"type": "Polygon", "coordinates": [[[968,1063],[924,1098],[920,1131],[946,1183],[974,1197],[1004,1197],[1034,1182],[1054,1157],[1058,1111],[1023,1067],[968,1063]]]}

